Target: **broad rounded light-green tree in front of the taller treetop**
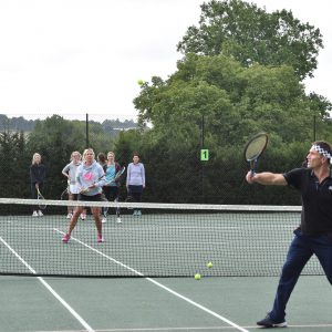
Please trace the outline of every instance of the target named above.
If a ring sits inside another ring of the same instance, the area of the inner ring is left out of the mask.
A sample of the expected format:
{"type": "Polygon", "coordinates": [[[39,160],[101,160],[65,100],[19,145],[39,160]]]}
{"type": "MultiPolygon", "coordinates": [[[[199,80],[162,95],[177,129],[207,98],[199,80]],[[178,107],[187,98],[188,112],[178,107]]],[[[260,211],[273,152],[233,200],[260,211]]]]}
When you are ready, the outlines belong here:
{"type": "Polygon", "coordinates": [[[243,68],[225,55],[190,53],[177,68],[168,81],[146,84],[134,100],[139,122],[153,124],[155,142],[176,136],[175,146],[197,145],[201,116],[210,144],[241,145],[259,131],[273,134],[274,142],[305,141],[314,112],[322,112],[291,66],[243,68]]]}

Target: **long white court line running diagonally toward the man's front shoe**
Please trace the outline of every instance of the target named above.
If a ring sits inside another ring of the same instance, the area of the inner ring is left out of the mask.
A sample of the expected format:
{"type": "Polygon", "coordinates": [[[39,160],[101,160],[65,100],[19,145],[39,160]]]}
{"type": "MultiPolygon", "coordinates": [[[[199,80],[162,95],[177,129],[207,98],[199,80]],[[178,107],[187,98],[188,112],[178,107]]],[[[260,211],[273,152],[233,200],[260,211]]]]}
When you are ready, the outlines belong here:
{"type": "MultiPolygon", "coordinates": [[[[60,232],[60,234],[62,234],[62,235],[64,235],[63,231],[61,231],[61,230],[59,230],[59,229],[56,229],[56,228],[54,228],[54,230],[58,231],[58,232],[60,232]]],[[[128,266],[122,263],[121,261],[118,261],[118,260],[116,260],[116,259],[114,259],[114,258],[112,258],[112,257],[105,255],[104,252],[102,252],[102,251],[100,251],[100,250],[97,250],[97,249],[95,249],[95,248],[93,248],[93,247],[91,247],[91,246],[89,246],[89,245],[86,245],[86,243],[80,241],[79,239],[71,237],[71,240],[74,240],[74,241],[79,242],[80,245],[82,245],[82,246],[84,246],[84,247],[91,249],[92,251],[94,251],[94,252],[101,255],[102,257],[104,257],[104,258],[106,258],[106,259],[108,259],[108,260],[115,262],[116,264],[120,264],[121,267],[123,267],[123,268],[125,268],[125,269],[127,269],[127,270],[134,272],[136,276],[144,277],[144,274],[141,273],[139,271],[137,271],[137,270],[135,270],[135,269],[133,269],[133,268],[131,268],[131,267],[128,267],[128,266]]],[[[178,292],[174,291],[173,289],[170,289],[170,288],[168,288],[168,287],[162,284],[160,282],[157,282],[156,280],[154,280],[154,279],[152,279],[152,278],[147,278],[147,277],[144,277],[144,278],[145,278],[145,280],[147,280],[147,281],[154,283],[155,286],[157,286],[157,287],[159,287],[159,288],[162,288],[162,289],[164,289],[164,290],[166,290],[167,292],[174,294],[175,297],[177,297],[177,298],[179,298],[179,299],[181,299],[181,300],[184,300],[184,301],[186,301],[186,302],[188,302],[188,303],[195,305],[196,308],[198,308],[198,309],[200,309],[200,310],[203,310],[203,311],[205,311],[205,312],[207,312],[207,313],[214,315],[215,318],[217,318],[217,319],[224,321],[225,323],[227,323],[227,324],[234,326],[235,329],[237,329],[237,330],[239,330],[239,331],[242,331],[242,332],[249,332],[248,330],[246,330],[246,329],[241,328],[240,325],[238,325],[238,324],[231,322],[230,320],[226,319],[225,317],[222,317],[222,315],[220,315],[220,314],[218,314],[218,313],[216,313],[216,312],[214,312],[214,311],[207,309],[207,308],[204,307],[204,305],[200,305],[199,303],[197,303],[197,302],[190,300],[189,298],[186,298],[186,297],[181,295],[180,293],[178,293],[178,292]]]]}

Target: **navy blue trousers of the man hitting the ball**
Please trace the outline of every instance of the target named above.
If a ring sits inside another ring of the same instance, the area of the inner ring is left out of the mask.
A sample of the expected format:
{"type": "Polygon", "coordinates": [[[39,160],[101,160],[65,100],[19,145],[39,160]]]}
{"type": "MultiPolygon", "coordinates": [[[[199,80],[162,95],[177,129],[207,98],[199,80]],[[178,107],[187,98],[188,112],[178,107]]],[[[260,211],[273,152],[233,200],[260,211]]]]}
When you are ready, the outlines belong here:
{"type": "Polygon", "coordinates": [[[273,309],[270,312],[272,320],[281,322],[286,317],[286,305],[305,263],[315,255],[332,284],[332,235],[310,237],[302,235],[300,229],[294,231],[286,262],[279,280],[273,309]]]}

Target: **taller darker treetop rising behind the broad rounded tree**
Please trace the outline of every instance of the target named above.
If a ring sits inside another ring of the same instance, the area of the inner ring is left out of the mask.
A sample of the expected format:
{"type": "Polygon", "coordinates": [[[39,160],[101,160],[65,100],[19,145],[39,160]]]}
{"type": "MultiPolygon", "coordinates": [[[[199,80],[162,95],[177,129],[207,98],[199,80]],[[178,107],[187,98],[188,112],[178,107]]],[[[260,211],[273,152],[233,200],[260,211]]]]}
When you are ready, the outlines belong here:
{"type": "Polygon", "coordinates": [[[232,56],[245,66],[253,63],[291,65],[303,80],[313,76],[322,34],[301,23],[291,11],[272,13],[240,0],[201,4],[199,27],[188,28],[177,50],[204,55],[232,56]]]}

